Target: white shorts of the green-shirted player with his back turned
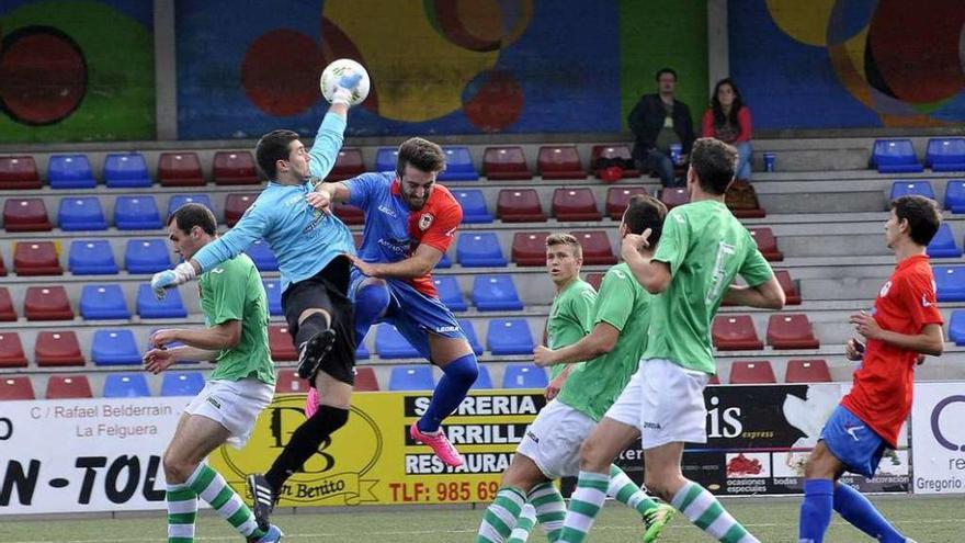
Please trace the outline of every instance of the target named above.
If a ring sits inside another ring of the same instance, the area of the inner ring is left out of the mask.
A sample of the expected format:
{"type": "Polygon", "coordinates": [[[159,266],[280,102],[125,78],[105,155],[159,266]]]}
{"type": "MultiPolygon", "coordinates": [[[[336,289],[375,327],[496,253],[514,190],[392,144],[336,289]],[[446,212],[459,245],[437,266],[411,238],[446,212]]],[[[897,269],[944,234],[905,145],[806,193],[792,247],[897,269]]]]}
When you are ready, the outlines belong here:
{"type": "Polygon", "coordinates": [[[637,428],[643,449],[673,442],[707,442],[707,408],[703,372],[669,360],[642,360],[640,367],[605,417],[637,428]]]}

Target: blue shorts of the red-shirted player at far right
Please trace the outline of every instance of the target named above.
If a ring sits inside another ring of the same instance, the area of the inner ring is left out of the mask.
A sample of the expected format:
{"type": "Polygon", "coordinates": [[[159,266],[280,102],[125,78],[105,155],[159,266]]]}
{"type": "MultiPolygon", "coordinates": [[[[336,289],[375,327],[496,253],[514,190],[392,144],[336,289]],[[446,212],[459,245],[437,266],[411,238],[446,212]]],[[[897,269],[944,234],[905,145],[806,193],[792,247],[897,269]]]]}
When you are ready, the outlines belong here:
{"type": "Polygon", "coordinates": [[[888,444],[844,406],[835,408],[821,430],[825,445],[849,472],[873,477],[888,444]]]}

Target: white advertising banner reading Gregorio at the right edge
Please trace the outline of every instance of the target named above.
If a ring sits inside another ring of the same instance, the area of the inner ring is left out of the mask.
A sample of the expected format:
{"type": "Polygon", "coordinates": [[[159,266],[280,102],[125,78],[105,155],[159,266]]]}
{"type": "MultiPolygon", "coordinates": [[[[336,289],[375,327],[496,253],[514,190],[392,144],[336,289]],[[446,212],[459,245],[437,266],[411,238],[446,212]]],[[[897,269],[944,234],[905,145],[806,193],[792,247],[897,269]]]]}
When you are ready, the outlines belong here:
{"type": "Polygon", "coordinates": [[[965,493],[965,383],[916,383],[911,407],[916,494],[965,493]]]}

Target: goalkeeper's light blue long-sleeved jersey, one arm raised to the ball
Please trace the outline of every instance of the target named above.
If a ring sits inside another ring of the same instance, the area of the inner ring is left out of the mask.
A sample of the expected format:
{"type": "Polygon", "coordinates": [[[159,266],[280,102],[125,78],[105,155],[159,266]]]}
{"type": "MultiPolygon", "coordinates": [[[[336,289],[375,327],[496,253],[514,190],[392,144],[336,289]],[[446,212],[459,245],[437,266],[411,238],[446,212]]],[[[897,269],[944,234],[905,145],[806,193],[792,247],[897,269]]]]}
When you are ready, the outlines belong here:
{"type": "MultiPolygon", "coordinates": [[[[309,151],[313,177],[323,179],[331,171],[344,132],[343,117],[326,114],[309,151]]],[[[235,258],[264,238],[279,260],[284,292],[292,283],[321,271],[336,257],[345,252],[355,254],[349,227],[334,215],[316,211],[305,200],[313,189],[311,182],[283,185],[270,181],[230,231],[194,254],[201,271],[206,272],[235,258]]]]}

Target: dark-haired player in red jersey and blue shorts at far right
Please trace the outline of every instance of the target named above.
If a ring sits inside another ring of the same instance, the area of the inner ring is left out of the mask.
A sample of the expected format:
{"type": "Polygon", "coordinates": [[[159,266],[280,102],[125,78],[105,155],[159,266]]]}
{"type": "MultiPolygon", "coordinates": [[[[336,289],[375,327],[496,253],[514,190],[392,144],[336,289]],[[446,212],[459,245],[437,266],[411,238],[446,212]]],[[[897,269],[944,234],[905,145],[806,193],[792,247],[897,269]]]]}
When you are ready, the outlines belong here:
{"type": "Polygon", "coordinates": [[[898,445],[898,432],[911,410],[919,355],[942,354],[942,314],[926,254],[941,222],[931,200],[902,196],[892,202],[885,239],[898,265],[878,292],[872,313],[851,316],[866,347],[856,339],[845,347],[850,360],[864,355],[851,392],[828,419],[805,467],[799,543],[824,541],[831,509],[876,541],[911,542],[867,498],[838,478],[844,472],[874,475],[885,449],[898,445]]]}

